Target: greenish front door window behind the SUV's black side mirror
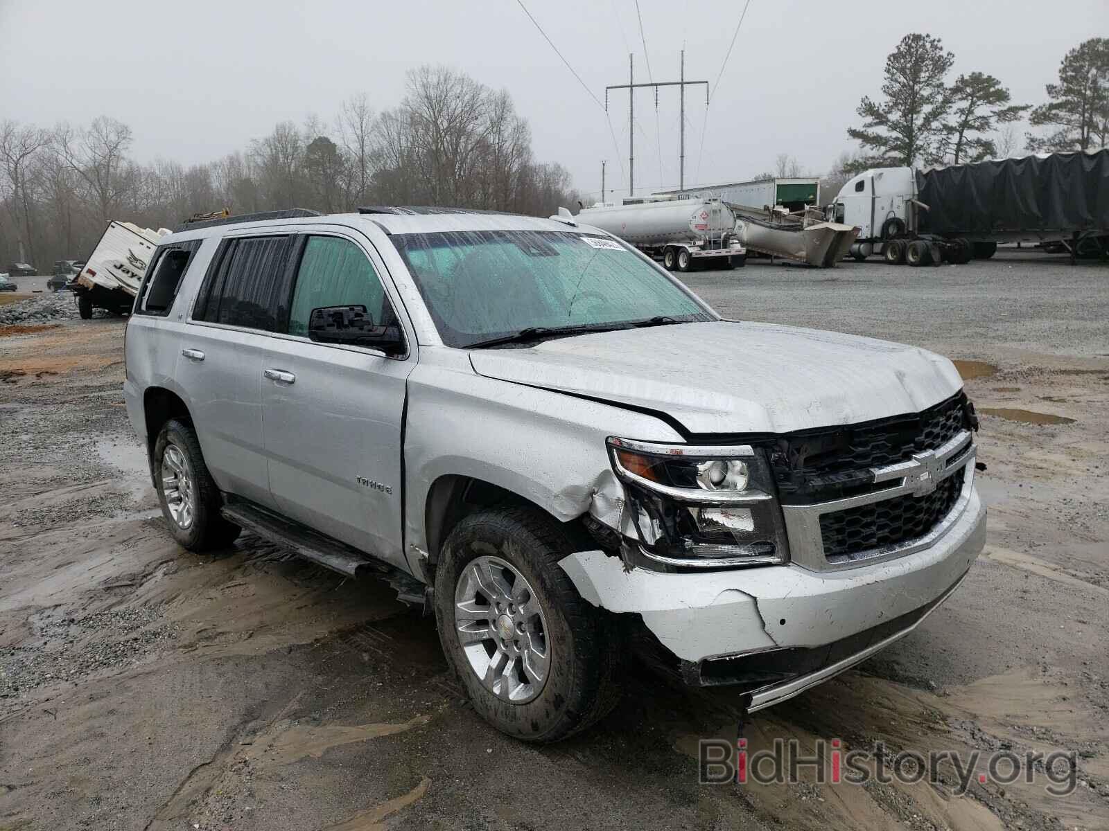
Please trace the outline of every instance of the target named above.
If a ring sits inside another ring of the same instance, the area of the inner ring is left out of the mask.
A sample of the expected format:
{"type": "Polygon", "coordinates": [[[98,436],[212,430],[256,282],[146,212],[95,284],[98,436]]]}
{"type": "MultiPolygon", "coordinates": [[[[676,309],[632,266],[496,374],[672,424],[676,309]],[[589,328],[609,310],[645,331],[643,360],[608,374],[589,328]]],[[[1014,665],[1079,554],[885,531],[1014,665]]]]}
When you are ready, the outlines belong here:
{"type": "Polygon", "coordinates": [[[313,309],[365,306],[377,325],[395,320],[381,280],[366,254],[349,239],[308,237],[296,273],[288,334],[306,337],[313,309]]]}

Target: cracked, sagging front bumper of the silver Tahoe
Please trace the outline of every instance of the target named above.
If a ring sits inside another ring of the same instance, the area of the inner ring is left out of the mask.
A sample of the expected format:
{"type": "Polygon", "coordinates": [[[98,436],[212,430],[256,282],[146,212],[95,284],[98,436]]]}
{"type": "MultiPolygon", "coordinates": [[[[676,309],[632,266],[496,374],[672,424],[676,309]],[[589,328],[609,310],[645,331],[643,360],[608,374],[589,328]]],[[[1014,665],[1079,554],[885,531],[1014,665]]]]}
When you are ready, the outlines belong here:
{"type": "Polygon", "coordinates": [[[907,635],[966,576],[985,544],[985,519],[971,489],[932,546],[844,571],[791,564],[665,574],[628,571],[603,551],[578,552],[560,565],[592,605],[642,617],[686,683],[741,685],[756,710],[907,635]]]}

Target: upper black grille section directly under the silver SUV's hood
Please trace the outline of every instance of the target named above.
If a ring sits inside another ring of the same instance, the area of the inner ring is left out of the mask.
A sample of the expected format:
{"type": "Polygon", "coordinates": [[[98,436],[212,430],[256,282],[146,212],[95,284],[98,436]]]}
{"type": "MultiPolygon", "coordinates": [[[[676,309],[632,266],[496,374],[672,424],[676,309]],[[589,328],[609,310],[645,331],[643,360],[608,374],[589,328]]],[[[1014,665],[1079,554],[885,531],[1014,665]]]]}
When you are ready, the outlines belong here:
{"type": "Polygon", "coordinates": [[[919,413],[780,439],[771,466],[783,504],[808,504],[873,491],[871,468],[908,461],[968,428],[959,392],[919,413]]]}

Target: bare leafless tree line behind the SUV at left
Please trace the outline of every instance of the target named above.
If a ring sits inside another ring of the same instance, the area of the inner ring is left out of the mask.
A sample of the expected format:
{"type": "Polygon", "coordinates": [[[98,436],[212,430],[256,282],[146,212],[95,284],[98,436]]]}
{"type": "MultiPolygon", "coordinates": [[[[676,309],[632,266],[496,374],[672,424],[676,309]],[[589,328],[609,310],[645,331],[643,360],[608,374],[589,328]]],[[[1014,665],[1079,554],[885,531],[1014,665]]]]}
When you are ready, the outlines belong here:
{"type": "Polygon", "coordinates": [[[130,125],[0,122],[0,268],[40,273],[83,258],[104,225],[173,227],[196,214],[358,205],[451,205],[548,216],[578,195],[557,163],[536,161],[531,131],[507,91],[445,66],[408,73],[399,105],[376,112],[366,94],[330,123],[278,123],[217,161],[182,165],[132,157],[130,125]]]}

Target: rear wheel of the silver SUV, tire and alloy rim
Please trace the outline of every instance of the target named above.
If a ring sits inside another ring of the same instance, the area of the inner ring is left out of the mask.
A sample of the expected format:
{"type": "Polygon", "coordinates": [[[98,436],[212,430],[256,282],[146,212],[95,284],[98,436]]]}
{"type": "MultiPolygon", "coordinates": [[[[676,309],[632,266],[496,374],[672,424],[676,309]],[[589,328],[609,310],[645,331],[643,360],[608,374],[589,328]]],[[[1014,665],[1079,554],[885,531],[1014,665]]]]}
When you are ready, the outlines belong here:
{"type": "Polygon", "coordinates": [[[235,542],[242,529],[220,515],[220,489],[190,424],[176,419],[165,422],[154,442],[153,464],[162,515],[177,543],[201,552],[235,542]]]}

